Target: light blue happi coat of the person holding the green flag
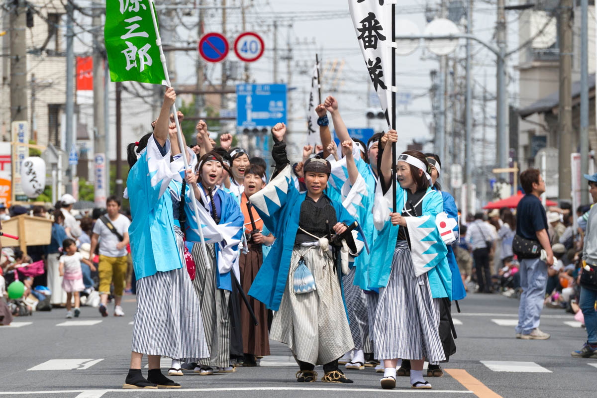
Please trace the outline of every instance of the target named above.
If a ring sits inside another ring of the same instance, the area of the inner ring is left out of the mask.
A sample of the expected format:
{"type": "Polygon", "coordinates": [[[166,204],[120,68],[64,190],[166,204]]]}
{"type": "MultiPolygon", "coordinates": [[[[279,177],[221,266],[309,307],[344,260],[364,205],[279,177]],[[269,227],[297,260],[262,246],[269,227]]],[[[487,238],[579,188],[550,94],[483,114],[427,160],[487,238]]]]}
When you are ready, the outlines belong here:
{"type": "Polygon", "coordinates": [[[182,267],[174,235],[172,198],[164,195],[174,175],[170,168],[170,141],[166,141],[164,149],[162,152],[155,138],[150,137],[128,172],[125,198],[130,200],[133,216],[128,235],[137,280],[157,271],[182,267]]]}

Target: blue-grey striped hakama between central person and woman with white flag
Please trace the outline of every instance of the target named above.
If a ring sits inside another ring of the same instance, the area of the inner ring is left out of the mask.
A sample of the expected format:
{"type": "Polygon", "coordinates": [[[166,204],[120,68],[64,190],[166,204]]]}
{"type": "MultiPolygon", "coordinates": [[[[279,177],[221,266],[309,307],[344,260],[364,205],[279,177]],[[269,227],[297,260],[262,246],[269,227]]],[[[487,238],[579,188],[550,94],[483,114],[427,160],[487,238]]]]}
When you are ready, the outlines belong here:
{"type": "Polygon", "coordinates": [[[348,322],[350,325],[350,334],[355,342],[355,350],[371,350],[369,342],[369,317],[367,315],[367,297],[359,286],[355,286],[356,267],[350,270],[350,273],[342,277],[344,288],[344,300],[348,311],[348,322]]]}

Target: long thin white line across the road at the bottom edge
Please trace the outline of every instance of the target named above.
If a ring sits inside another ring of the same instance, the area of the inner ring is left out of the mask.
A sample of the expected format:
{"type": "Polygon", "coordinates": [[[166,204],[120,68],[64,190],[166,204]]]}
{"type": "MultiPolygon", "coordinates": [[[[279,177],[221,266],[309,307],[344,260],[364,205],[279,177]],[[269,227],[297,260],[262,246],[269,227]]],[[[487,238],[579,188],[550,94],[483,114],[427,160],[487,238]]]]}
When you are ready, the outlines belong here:
{"type": "MultiPolygon", "coordinates": [[[[150,394],[173,393],[172,390],[164,388],[164,390],[144,390],[143,392],[149,391],[150,394]]],[[[177,390],[176,393],[202,393],[202,392],[218,392],[218,391],[338,391],[346,393],[348,391],[358,391],[367,393],[423,393],[423,394],[472,394],[470,390],[413,390],[411,388],[403,390],[381,390],[380,388],[344,388],[344,387],[231,387],[231,388],[182,388],[177,390]]],[[[47,390],[47,391],[0,391],[2,395],[27,395],[27,394],[74,394],[74,393],[85,393],[95,395],[84,395],[81,397],[94,397],[100,398],[105,393],[137,393],[139,390],[122,390],[113,388],[111,390],[47,390]]]]}

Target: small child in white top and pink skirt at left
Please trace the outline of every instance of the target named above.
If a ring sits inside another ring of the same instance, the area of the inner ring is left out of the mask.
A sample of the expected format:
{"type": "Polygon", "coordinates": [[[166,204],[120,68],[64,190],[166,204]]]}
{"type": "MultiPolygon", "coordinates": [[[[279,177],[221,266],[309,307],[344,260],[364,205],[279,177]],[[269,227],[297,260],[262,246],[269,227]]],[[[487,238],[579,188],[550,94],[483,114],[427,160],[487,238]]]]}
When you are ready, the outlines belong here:
{"type": "Polygon", "coordinates": [[[62,288],[66,292],[66,317],[73,317],[71,311],[72,297],[75,297],[75,317],[79,317],[79,292],[85,289],[83,284],[83,273],[81,271],[81,262],[88,266],[93,266],[91,261],[83,258],[81,253],[76,251],[76,243],[73,239],[64,239],[62,242],[63,254],[60,257],[59,272],[63,276],[62,288]]]}

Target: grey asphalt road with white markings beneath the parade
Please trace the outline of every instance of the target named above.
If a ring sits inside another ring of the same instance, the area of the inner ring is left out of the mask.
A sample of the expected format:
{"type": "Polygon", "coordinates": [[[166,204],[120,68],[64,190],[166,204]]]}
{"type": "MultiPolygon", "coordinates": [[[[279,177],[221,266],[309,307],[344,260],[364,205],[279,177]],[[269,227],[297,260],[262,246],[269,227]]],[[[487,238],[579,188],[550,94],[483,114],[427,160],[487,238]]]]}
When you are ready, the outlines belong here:
{"type": "MultiPolygon", "coordinates": [[[[230,397],[292,396],[363,397],[377,394],[413,397],[585,398],[597,396],[597,358],[574,359],[586,332],[563,310],[544,308],[541,329],[546,341],[516,340],[518,300],[501,295],[471,294],[460,302],[457,353],[444,377],[430,378],[433,390],[410,390],[399,378],[396,390],[381,390],[373,369],[346,371],[354,384],[298,384],[297,366],[285,345],[272,342],[272,356],[258,368],[232,374],[185,374],[180,390],[121,390],[130,360],[134,296],[125,297],[124,317],[102,318],[97,308],[83,307],[81,317],[94,325],[60,325],[66,310],[17,317],[0,326],[0,397],[230,397]]],[[[454,308],[454,311],[456,309],[454,308]]],[[[162,362],[164,371],[170,362],[162,362]]],[[[322,376],[321,367],[316,368],[322,376]]],[[[145,371],[144,371],[145,372],[145,371]]]]}

